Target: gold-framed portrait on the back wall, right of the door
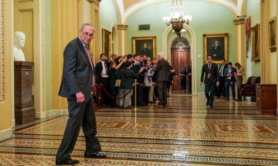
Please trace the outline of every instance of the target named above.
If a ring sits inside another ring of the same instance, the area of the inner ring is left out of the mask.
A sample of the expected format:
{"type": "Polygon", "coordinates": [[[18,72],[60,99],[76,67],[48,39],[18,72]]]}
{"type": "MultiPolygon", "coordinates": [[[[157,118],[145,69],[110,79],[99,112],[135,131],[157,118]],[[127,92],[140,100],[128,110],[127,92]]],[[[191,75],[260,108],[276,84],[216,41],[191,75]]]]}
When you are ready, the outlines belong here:
{"type": "Polygon", "coordinates": [[[221,59],[228,61],[228,33],[203,34],[204,64],[207,63],[208,55],[213,56],[212,62],[216,64],[221,64],[221,59]]]}

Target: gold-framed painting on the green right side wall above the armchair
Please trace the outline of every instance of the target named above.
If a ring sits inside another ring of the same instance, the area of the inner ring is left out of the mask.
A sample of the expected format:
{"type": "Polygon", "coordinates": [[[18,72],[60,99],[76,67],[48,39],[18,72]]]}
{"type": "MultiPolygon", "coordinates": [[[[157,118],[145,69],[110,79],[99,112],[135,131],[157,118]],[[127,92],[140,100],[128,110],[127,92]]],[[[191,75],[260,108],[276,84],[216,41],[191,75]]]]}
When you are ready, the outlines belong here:
{"type": "Polygon", "coordinates": [[[251,28],[251,37],[252,37],[252,60],[260,60],[260,24],[255,25],[251,28]]]}

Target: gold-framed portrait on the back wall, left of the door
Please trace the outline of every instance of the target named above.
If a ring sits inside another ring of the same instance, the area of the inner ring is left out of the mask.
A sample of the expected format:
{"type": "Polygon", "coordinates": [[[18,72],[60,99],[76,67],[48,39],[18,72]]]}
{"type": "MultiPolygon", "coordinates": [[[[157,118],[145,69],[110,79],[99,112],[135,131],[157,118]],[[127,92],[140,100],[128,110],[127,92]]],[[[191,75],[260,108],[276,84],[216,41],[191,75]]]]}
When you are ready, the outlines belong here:
{"type": "Polygon", "coordinates": [[[132,37],[132,54],[156,57],[156,36],[132,37]]]}

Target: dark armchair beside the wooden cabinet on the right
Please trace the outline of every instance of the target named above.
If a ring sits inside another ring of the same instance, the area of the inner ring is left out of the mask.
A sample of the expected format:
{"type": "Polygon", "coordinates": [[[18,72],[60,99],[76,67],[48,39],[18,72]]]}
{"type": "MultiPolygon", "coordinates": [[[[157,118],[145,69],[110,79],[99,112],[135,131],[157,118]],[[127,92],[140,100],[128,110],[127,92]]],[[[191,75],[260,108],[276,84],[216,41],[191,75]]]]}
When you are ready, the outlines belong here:
{"type": "Polygon", "coordinates": [[[261,83],[261,77],[249,77],[245,84],[242,84],[242,95],[243,101],[245,101],[245,97],[256,97],[256,86],[255,84],[261,83]]]}

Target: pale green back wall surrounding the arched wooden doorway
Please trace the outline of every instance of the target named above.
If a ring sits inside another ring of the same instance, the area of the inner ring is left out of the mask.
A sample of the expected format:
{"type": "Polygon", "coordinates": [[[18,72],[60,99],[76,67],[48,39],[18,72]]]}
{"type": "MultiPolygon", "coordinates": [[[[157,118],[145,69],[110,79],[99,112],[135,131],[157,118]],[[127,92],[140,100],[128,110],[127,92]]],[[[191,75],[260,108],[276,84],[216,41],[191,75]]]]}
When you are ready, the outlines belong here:
{"type": "MultiPolygon", "coordinates": [[[[205,1],[183,1],[183,6],[184,14],[192,15],[193,17],[190,26],[196,34],[197,92],[204,92],[204,88],[198,86],[203,65],[203,34],[229,33],[229,61],[235,63],[234,15],[226,7],[205,1]],[[199,58],[198,55],[201,55],[201,57],[199,58]]],[[[167,25],[162,20],[162,17],[169,16],[170,11],[171,2],[163,2],[144,7],[132,14],[127,21],[129,26],[127,29],[127,53],[132,52],[133,36],[156,36],[157,52],[162,51],[162,35],[165,29],[167,29],[167,25]],[[138,24],[150,24],[151,30],[138,31],[138,24]]],[[[194,62],[192,64],[194,65],[194,62]]]]}

